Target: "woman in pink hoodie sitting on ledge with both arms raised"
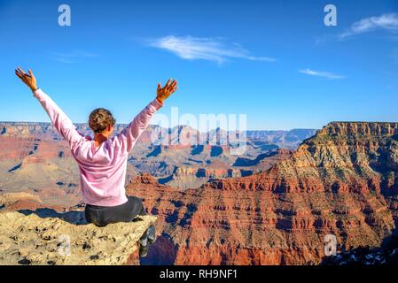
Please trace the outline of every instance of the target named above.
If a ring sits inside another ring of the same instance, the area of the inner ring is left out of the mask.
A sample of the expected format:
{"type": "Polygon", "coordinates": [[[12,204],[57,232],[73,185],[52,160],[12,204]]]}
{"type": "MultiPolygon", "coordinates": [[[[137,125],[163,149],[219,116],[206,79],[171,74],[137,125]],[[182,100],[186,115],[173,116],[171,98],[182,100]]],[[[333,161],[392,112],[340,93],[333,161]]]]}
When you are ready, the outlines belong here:
{"type": "MultiPolygon", "coordinates": [[[[158,84],[156,98],[129,126],[112,138],[115,124],[112,113],[102,108],[92,111],[89,119],[90,128],[94,132],[92,139],[77,132],[72,121],[51,97],[37,88],[35,75],[31,70],[25,73],[17,68],[15,74],[32,90],[59,134],[69,143],[72,155],[79,165],[87,221],[96,226],[106,226],[110,223],[130,222],[137,216],[144,215],[142,201],[135,196],[126,196],[124,186],[128,155],[156,111],[163,106],[168,96],[176,92],[177,81],[168,80],[164,88],[158,84]]],[[[151,226],[140,239],[140,256],[146,256],[147,241],[152,243],[154,240],[154,226],[151,226]]]]}

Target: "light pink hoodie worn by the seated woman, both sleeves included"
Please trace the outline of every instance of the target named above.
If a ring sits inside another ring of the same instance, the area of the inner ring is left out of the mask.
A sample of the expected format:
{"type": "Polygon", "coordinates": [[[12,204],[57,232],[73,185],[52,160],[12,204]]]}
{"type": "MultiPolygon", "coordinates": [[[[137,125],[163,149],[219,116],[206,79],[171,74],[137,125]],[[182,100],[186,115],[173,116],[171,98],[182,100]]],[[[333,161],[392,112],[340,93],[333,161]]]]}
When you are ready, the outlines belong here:
{"type": "Polygon", "coordinates": [[[41,89],[34,96],[42,103],[51,122],[69,146],[80,170],[84,203],[115,206],[127,202],[125,180],[129,151],[149,125],[153,115],[163,106],[154,99],[121,134],[103,142],[98,148],[90,136],[77,132],[72,121],[41,89]]]}

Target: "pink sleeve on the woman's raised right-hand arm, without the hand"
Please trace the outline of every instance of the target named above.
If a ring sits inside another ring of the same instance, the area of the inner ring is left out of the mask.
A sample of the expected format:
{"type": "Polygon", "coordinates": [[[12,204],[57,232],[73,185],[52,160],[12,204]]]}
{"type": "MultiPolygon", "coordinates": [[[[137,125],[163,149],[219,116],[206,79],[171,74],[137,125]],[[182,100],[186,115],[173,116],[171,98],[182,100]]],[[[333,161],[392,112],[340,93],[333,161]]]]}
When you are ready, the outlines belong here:
{"type": "Polygon", "coordinates": [[[158,111],[162,106],[163,103],[160,103],[158,99],[153,99],[152,102],[149,103],[135,119],[133,119],[129,126],[125,127],[120,134],[117,134],[114,137],[116,142],[119,144],[121,151],[129,152],[133,149],[133,146],[136,144],[140,135],[144,133],[144,130],[151,122],[156,111],[158,111]]]}

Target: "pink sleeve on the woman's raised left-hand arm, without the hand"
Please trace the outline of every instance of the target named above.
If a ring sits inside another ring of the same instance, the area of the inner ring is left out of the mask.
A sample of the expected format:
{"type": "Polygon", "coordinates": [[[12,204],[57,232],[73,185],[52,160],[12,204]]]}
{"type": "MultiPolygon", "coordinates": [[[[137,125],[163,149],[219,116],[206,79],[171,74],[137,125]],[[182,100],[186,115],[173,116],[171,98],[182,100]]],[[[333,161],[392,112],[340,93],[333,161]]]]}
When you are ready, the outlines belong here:
{"type": "Polygon", "coordinates": [[[46,95],[42,89],[37,89],[33,96],[42,104],[44,110],[49,115],[52,124],[55,126],[59,134],[61,134],[70,147],[73,148],[77,142],[82,139],[82,134],[78,133],[72,121],[59,108],[59,106],[46,95]]]}

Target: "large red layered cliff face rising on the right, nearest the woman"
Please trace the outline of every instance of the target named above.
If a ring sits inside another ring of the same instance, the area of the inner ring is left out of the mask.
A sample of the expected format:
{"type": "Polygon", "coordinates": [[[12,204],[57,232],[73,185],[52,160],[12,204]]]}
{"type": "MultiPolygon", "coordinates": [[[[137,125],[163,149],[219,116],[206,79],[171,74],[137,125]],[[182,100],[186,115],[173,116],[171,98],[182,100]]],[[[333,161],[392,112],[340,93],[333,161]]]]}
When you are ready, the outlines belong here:
{"type": "Polygon", "coordinates": [[[342,251],[392,233],[397,134],[397,123],[331,123],[267,172],[184,192],[144,176],[129,193],[159,216],[174,264],[316,264],[327,234],[342,251]]]}

